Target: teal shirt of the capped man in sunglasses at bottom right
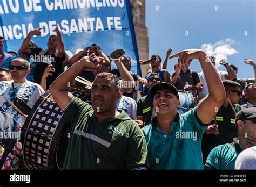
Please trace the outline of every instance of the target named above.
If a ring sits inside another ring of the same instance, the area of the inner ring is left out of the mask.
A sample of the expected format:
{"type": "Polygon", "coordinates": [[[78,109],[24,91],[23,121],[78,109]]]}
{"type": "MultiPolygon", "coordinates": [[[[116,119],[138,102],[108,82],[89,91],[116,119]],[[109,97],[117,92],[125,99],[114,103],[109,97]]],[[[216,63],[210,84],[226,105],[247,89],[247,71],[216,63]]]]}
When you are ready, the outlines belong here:
{"type": "MultiPolygon", "coordinates": [[[[244,150],[244,147],[238,143],[237,145],[241,150],[244,150]]],[[[212,169],[234,169],[238,154],[238,151],[235,150],[230,143],[219,145],[212,149],[207,157],[205,166],[212,169]]]]}

